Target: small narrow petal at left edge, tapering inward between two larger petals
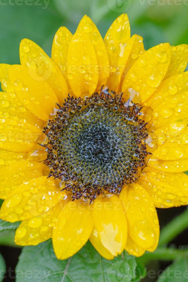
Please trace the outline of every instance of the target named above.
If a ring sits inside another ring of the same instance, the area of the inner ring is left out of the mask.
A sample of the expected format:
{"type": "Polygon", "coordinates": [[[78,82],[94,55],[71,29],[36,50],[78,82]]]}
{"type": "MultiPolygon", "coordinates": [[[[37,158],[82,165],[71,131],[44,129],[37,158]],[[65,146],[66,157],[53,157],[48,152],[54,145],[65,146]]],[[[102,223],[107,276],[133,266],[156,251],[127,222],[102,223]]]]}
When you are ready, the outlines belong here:
{"type": "Polygon", "coordinates": [[[17,161],[25,161],[26,157],[27,153],[18,153],[0,149],[0,169],[5,165],[10,165],[17,161]]]}

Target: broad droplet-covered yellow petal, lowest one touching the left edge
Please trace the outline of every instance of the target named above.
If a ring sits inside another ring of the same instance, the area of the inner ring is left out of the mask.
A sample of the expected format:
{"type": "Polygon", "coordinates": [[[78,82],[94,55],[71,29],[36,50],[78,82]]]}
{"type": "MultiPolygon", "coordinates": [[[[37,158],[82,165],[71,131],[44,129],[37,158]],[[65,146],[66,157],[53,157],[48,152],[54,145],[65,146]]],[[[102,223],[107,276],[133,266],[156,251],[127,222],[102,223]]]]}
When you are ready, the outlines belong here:
{"type": "Polygon", "coordinates": [[[0,218],[15,222],[41,217],[44,213],[47,216],[65,195],[55,186],[53,179],[47,179],[47,176],[24,181],[3,202],[0,218]]]}

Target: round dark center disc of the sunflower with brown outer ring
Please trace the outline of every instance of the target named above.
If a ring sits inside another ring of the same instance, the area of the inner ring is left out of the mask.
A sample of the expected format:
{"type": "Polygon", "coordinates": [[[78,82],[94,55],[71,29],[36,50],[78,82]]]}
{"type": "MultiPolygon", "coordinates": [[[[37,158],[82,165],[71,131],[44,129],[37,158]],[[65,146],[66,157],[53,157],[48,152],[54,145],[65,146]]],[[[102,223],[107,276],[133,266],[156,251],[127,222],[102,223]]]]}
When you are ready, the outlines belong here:
{"type": "MultiPolygon", "coordinates": [[[[59,105],[58,105],[59,106],[59,105]]],[[[147,156],[141,106],[101,89],[89,98],[68,96],[44,132],[49,176],[72,192],[72,199],[120,193],[137,180],[147,156]]]]}

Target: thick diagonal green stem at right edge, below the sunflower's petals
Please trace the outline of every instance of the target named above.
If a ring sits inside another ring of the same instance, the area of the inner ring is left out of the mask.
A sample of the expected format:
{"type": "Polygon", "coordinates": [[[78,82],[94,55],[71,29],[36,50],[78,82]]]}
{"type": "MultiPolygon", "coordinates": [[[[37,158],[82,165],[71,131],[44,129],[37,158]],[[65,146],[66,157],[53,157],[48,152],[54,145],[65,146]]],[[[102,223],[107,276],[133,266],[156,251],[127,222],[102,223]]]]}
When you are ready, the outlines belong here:
{"type": "Polygon", "coordinates": [[[187,210],[185,210],[185,212],[174,218],[170,223],[162,228],[158,246],[160,247],[164,244],[168,244],[186,228],[188,228],[187,210]]]}

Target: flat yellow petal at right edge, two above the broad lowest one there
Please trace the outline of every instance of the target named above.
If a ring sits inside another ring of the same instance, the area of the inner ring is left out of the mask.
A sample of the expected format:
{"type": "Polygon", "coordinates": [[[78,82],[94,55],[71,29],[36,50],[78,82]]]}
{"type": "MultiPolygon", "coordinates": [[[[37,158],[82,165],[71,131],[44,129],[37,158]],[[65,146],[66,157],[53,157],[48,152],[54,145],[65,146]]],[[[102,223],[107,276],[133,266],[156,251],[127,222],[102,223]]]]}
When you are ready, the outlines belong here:
{"type": "Polygon", "coordinates": [[[157,149],[152,152],[152,158],[164,161],[188,158],[188,144],[165,142],[162,145],[158,145],[157,149]]]}

